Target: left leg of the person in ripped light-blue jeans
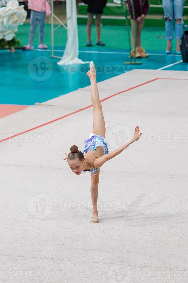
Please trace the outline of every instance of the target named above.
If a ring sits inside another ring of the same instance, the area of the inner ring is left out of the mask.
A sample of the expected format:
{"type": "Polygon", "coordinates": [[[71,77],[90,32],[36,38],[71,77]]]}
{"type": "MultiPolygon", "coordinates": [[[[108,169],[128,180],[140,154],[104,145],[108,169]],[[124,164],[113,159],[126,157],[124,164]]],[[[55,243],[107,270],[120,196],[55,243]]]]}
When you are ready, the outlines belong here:
{"type": "Polygon", "coordinates": [[[166,40],[167,46],[166,51],[171,50],[172,38],[173,38],[173,0],[163,0],[164,9],[164,20],[165,20],[165,30],[166,30],[166,40]]]}

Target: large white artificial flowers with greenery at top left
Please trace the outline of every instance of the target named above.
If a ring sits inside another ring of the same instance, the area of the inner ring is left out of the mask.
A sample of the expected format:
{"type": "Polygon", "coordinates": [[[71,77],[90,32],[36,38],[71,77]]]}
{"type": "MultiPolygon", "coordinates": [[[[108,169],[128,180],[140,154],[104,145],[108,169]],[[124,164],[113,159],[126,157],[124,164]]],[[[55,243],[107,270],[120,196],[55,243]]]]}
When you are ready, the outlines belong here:
{"type": "Polygon", "coordinates": [[[17,0],[7,3],[4,1],[4,4],[6,6],[0,8],[0,48],[20,46],[20,41],[15,36],[18,26],[23,25],[27,12],[23,8],[24,5],[19,6],[17,0]]]}

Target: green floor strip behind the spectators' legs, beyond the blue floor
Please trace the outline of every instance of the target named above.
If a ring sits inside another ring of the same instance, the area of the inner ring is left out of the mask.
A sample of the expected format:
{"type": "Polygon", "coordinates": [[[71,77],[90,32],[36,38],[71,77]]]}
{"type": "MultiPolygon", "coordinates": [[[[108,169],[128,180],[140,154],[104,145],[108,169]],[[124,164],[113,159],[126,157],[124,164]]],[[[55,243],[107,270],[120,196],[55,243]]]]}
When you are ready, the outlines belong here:
{"type": "MultiPolygon", "coordinates": [[[[17,37],[22,41],[22,44],[28,44],[30,24],[25,23],[19,26],[17,37]]],[[[131,32],[131,28],[130,28],[131,32]]],[[[64,48],[67,42],[67,31],[63,27],[58,28],[54,32],[54,46],[64,48]]],[[[78,25],[79,47],[85,47],[87,42],[86,25],[78,25]]],[[[165,50],[166,39],[165,29],[162,27],[144,27],[142,32],[142,46],[149,50],[165,50]],[[162,38],[157,38],[162,37],[162,38]]],[[[39,33],[36,30],[33,45],[38,45],[39,33]]],[[[128,35],[125,26],[102,26],[101,40],[106,43],[106,48],[112,49],[128,49],[128,35]]],[[[95,25],[92,26],[92,42],[96,44],[95,25]]],[[[51,46],[51,24],[45,25],[44,43],[51,46]]],[[[101,49],[101,47],[100,47],[101,49]]]]}

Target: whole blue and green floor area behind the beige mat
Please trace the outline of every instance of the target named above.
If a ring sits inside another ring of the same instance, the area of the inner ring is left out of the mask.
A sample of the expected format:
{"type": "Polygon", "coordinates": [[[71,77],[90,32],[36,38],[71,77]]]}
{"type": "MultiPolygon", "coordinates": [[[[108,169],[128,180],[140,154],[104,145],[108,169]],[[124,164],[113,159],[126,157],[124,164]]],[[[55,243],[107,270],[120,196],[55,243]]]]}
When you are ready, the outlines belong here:
{"type": "MultiPolygon", "coordinates": [[[[22,44],[27,44],[29,23],[19,26],[17,37],[22,44]]],[[[86,47],[86,26],[78,25],[79,58],[84,62],[94,61],[97,68],[97,81],[137,69],[184,70],[187,64],[176,62],[181,60],[181,55],[165,55],[166,48],[164,28],[144,27],[142,33],[142,46],[149,53],[149,57],[138,59],[141,65],[124,65],[129,61],[128,40],[126,27],[102,26],[101,38],[106,43],[105,47],[86,47]],[[168,66],[171,65],[172,66],[168,66]]],[[[60,27],[55,31],[55,55],[62,56],[67,41],[67,31],[60,27]]],[[[96,43],[95,26],[92,27],[92,41],[96,43]]],[[[67,94],[78,88],[89,85],[86,77],[89,64],[64,66],[60,68],[56,63],[59,59],[51,58],[51,25],[45,25],[45,41],[48,51],[22,51],[10,53],[0,51],[1,56],[1,95],[2,104],[34,105],[35,102],[44,102],[54,97],[67,94]],[[6,94],[6,95],[5,95],[6,94]]],[[[38,45],[38,31],[35,34],[34,47],[38,45]]],[[[175,46],[175,40],[174,40],[175,46]]],[[[147,80],[147,78],[146,78],[147,80]]]]}

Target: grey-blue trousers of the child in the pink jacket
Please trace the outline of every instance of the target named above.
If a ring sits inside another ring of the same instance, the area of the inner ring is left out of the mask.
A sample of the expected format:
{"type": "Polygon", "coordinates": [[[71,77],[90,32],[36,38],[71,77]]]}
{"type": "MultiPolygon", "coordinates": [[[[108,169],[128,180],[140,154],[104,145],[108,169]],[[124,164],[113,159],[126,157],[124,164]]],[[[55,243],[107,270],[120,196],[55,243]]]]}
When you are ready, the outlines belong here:
{"type": "Polygon", "coordinates": [[[33,40],[35,37],[35,30],[37,27],[37,21],[39,21],[39,42],[40,44],[43,43],[44,38],[44,24],[45,24],[45,12],[37,12],[31,10],[31,16],[30,16],[30,33],[29,33],[29,45],[31,46],[33,44],[33,40]]]}

